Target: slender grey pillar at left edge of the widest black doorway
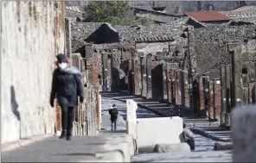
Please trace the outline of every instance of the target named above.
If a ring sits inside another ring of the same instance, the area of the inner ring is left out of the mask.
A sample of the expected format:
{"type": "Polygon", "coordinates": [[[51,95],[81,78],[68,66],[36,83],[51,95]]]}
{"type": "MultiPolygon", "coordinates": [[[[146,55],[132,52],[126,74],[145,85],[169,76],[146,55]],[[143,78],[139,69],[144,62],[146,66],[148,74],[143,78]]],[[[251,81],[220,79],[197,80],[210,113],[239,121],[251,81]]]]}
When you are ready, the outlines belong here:
{"type": "Polygon", "coordinates": [[[152,54],[146,56],[146,73],[147,73],[147,99],[152,98],[152,81],[151,81],[151,61],[152,54]]]}

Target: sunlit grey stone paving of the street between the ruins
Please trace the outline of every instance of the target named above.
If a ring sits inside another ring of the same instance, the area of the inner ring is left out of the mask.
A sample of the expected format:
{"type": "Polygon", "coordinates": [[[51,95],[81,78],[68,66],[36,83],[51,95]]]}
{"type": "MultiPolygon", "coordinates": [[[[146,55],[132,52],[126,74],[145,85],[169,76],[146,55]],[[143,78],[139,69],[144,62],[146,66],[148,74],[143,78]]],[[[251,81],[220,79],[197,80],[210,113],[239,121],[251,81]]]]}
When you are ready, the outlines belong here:
{"type": "MultiPolygon", "coordinates": [[[[113,97],[114,98],[114,97],[113,97]]],[[[112,99],[112,97],[102,97],[102,113],[107,115],[108,107],[112,105],[112,103],[116,103],[118,106],[118,110],[121,112],[118,118],[118,129],[125,129],[125,103],[112,99]]],[[[156,115],[152,114],[148,110],[144,110],[142,108],[138,109],[138,118],[143,117],[154,117],[156,115]]],[[[104,121],[104,120],[103,120],[104,121]]],[[[106,124],[109,121],[106,118],[106,124]]],[[[195,120],[196,121],[196,120],[195,120]]],[[[198,121],[198,120],[197,120],[198,121]]],[[[191,119],[189,122],[193,122],[191,119]]],[[[103,122],[104,123],[104,122],[103,122]]],[[[110,128],[105,126],[105,129],[109,130],[110,128]]],[[[208,131],[208,133],[215,134],[214,131],[208,131]]],[[[222,138],[227,138],[229,135],[219,135],[222,138]]],[[[232,154],[231,151],[213,151],[214,141],[203,137],[202,135],[195,135],[195,151],[189,154],[136,154],[133,156],[133,162],[231,162],[232,154]]]]}

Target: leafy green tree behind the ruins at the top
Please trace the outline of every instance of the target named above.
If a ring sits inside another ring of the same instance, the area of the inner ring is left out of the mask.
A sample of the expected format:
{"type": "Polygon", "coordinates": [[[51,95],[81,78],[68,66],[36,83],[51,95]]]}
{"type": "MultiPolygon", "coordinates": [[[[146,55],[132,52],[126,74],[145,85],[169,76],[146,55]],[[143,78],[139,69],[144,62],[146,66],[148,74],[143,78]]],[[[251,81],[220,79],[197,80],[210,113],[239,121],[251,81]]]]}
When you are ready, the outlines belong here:
{"type": "Polygon", "coordinates": [[[127,1],[91,1],[85,11],[86,22],[110,22],[113,25],[150,23],[148,17],[136,20],[127,1]]]}

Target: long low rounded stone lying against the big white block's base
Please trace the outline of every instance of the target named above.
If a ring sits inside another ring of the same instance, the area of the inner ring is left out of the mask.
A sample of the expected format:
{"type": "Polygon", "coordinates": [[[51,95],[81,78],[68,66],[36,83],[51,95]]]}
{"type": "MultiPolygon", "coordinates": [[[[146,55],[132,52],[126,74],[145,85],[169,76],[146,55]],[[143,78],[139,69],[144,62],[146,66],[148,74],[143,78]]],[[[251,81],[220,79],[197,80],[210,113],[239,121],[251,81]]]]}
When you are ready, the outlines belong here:
{"type": "Polygon", "coordinates": [[[154,147],[155,153],[183,153],[190,152],[190,147],[187,143],[177,143],[177,144],[157,144],[154,147]]]}

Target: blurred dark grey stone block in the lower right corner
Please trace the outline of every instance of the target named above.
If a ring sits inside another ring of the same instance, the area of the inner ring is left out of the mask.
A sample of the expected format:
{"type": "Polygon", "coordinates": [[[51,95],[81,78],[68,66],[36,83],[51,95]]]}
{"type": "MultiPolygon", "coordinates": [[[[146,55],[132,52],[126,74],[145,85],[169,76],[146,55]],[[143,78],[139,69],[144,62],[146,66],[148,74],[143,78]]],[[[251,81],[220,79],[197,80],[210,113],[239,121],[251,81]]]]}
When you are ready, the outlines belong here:
{"type": "Polygon", "coordinates": [[[238,107],[232,111],[233,161],[256,161],[256,105],[238,107]]]}

